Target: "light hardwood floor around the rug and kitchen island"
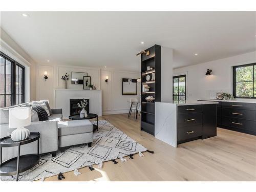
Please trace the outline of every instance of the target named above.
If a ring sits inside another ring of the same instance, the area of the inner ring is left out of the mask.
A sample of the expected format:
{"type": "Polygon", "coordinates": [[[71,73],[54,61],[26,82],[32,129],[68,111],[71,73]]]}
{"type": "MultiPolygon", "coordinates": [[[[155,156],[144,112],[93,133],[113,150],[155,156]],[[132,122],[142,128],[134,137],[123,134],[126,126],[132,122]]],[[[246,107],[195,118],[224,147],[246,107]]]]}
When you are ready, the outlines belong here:
{"type": "MultiPolygon", "coordinates": [[[[196,140],[174,148],[140,131],[140,120],[127,114],[104,115],[122,132],[155,154],[145,152],[118,164],[104,162],[99,171],[88,167],[82,174],[65,173],[61,181],[256,181],[256,136],[219,129],[217,137],[196,140]]],[[[97,167],[95,165],[94,167],[97,167]]],[[[45,181],[58,181],[57,176],[45,181]]]]}

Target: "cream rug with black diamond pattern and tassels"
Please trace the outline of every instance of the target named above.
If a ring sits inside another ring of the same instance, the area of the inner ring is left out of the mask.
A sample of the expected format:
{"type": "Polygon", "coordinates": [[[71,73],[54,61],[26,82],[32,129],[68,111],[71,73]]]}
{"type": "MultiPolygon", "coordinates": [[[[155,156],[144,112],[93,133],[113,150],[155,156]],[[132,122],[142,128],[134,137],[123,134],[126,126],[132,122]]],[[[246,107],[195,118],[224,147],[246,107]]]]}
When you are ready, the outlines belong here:
{"type": "MultiPolygon", "coordinates": [[[[96,123],[96,122],[92,122],[96,123]]],[[[98,122],[99,129],[93,134],[92,147],[87,144],[75,145],[56,157],[51,154],[41,155],[39,163],[26,172],[19,174],[19,181],[34,181],[58,175],[60,172],[82,168],[129,156],[147,149],[125,135],[108,121],[98,122]]],[[[14,180],[16,176],[0,177],[0,180],[14,180]]]]}

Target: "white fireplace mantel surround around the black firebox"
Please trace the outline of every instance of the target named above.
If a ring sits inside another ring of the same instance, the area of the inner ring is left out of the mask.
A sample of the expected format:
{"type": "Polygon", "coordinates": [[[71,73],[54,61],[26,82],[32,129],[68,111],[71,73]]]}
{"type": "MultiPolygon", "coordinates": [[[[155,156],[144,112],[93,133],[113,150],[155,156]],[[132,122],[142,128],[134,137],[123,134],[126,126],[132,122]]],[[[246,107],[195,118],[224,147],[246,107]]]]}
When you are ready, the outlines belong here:
{"type": "Polygon", "coordinates": [[[68,119],[70,99],[89,99],[90,113],[102,116],[101,94],[101,90],[56,89],[54,90],[55,108],[61,108],[63,119],[68,119]]]}

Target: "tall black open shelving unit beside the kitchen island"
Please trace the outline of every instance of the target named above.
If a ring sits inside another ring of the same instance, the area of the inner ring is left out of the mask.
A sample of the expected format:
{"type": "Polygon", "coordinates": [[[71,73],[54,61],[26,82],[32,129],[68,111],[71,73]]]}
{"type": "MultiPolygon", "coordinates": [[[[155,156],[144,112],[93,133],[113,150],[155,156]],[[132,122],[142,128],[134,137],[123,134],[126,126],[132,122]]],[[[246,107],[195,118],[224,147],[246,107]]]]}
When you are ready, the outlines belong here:
{"type": "Polygon", "coordinates": [[[154,45],[141,54],[141,130],[155,135],[155,101],[161,101],[161,46],[154,45]],[[146,55],[149,51],[150,54],[146,55]],[[147,67],[153,69],[147,71],[147,67]],[[155,73],[154,81],[146,81],[146,76],[155,73]],[[143,92],[143,84],[148,84],[150,90],[143,92]],[[152,102],[147,102],[146,97],[153,96],[152,102]]]}

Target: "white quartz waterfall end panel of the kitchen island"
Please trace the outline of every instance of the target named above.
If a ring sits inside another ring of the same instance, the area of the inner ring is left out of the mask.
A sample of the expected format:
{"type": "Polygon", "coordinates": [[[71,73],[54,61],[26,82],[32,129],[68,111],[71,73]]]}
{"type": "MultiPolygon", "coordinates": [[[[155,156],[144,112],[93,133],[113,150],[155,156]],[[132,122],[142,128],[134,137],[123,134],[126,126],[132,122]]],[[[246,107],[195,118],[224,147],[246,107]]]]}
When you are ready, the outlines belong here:
{"type": "Polygon", "coordinates": [[[155,103],[155,137],[177,147],[177,104],[155,103]]]}

